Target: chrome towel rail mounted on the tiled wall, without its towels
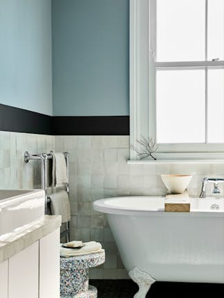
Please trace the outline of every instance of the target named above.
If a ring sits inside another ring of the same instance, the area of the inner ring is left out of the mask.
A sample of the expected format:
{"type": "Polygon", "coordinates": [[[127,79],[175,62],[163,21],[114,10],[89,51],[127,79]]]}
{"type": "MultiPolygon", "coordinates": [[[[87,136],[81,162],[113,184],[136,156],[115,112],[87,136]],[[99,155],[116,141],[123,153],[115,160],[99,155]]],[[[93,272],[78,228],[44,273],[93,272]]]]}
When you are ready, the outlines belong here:
{"type": "MultiPolygon", "coordinates": [[[[47,188],[48,188],[48,181],[47,181],[47,160],[53,159],[52,151],[50,153],[41,153],[39,155],[30,155],[28,151],[24,153],[24,162],[28,163],[31,160],[40,160],[41,161],[41,188],[44,190],[45,194],[45,214],[47,213],[47,205],[50,201],[47,195],[47,188]]],[[[64,158],[66,159],[66,170],[67,170],[67,176],[68,176],[68,183],[65,184],[66,186],[66,192],[68,193],[69,197],[69,153],[63,152],[64,158]]],[[[66,230],[62,232],[61,237],[64,237],[66,235],[66,241],[70,241],[70,224],[69,221],[66,222],[66,230]]]]}

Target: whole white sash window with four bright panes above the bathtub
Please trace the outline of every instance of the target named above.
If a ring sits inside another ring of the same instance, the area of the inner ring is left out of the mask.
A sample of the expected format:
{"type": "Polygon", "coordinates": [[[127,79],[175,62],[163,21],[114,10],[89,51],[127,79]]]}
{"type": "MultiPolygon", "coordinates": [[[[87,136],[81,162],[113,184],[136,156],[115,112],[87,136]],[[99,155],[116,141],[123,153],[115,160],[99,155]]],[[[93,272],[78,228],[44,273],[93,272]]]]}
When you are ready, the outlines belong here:
{"type": "Polygon", "coordinates": [[[224,0],[151,0],[158,143],[224,142],[224,0]]]}

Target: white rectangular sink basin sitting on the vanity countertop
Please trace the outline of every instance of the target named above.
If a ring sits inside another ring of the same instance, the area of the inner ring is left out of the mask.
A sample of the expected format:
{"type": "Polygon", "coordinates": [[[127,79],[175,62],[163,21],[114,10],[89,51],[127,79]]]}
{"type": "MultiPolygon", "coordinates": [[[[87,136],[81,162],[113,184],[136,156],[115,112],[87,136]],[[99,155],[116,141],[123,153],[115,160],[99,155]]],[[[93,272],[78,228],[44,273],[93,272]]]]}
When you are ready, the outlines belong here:
{"type": "Polygon", "coordinates": [[[0,190],[0,236],[44,216],[44,190],[0,190]]]}

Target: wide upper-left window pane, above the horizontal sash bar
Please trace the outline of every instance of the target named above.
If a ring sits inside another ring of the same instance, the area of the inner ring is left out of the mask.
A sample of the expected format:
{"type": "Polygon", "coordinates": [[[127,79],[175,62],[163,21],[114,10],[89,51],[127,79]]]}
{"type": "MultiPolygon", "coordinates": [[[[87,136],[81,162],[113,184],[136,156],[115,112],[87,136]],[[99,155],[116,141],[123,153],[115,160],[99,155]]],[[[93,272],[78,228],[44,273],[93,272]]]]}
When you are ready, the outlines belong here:
{"type": "Polygon", "coordinates": [[[156,0],[156,34],[156,61],[205,61],[205,0],[156,0]]]}

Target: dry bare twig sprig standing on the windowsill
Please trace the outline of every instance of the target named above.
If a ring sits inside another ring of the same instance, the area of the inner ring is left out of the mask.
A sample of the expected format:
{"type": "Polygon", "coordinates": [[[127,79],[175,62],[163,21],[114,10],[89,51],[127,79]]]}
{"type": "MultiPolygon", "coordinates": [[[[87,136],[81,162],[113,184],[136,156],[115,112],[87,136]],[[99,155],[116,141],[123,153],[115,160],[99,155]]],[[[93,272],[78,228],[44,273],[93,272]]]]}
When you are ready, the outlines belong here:
{"type": "Polygon", "coordinates": [[[133,145],[131,145],[131,149],[134,150],[138,157],[140,159],[145,159],[147,157],[151,157],[152,159],[156,160],[155,157],[153,157],[153,153],[156,152],[158,150],[158,144],[156,143],[156,139],[152,139],[152,138],[145,138],[141,135],[140,139],[136,140],[137,143],[140,144],[140,149],[134,147],[133,145]]]}

